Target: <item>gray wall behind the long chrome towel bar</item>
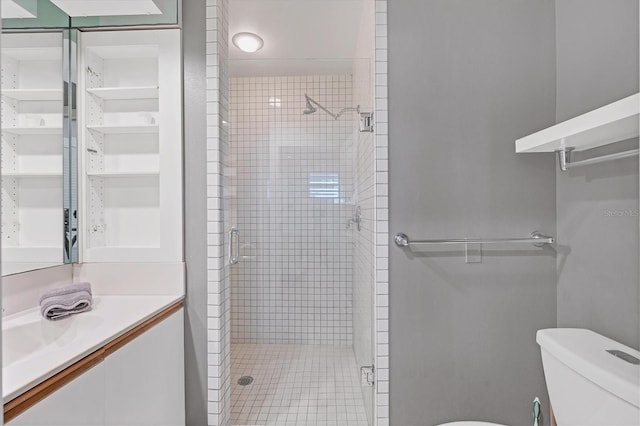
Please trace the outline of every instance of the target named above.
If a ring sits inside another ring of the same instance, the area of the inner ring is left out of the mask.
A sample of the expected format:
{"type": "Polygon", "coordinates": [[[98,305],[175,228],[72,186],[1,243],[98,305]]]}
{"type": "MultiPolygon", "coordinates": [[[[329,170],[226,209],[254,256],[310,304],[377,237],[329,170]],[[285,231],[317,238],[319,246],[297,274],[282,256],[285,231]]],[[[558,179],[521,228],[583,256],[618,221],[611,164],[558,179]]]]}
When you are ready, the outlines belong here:
{"type": "MultiPolygon", "coordinates": [[[[392,234],[555,233],[553,155],[514,153],[555,122],[554,33],[551,0],[389,2],[392,234]]],[[[391,246],[394,426],[546,408],[535,333],[556,324],[555,253],[499,250],[465,264],[391,246]]]]}

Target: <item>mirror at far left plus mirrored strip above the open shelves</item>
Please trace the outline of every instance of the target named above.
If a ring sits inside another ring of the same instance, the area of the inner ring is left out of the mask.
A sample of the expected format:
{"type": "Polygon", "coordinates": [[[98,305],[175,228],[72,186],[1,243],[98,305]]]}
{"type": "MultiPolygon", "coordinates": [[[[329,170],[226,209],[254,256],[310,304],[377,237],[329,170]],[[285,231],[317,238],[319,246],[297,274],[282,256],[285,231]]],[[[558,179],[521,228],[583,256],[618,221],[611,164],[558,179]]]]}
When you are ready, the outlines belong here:
{"type": "Polygon", "coordinates": [[[178,0],[0,0],[2,275],[78,261],[78,30],[179,23],[178,0]]]}

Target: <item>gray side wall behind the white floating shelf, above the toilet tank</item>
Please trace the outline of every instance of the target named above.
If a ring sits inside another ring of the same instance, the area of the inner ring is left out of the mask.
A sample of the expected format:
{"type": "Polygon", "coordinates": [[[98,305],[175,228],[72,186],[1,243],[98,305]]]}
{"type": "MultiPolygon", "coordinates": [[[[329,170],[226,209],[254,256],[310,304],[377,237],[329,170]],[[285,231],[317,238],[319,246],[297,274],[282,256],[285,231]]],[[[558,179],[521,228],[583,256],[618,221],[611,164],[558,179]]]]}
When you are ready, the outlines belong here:
{"type": "MultiPolygon", "coordinates": [[[[637,0],[557,0],[556,20],[559,121],[638,92],[637,0]]],[[[638,158],[556,181],[558,326],[637,347],[638,158]]]]}

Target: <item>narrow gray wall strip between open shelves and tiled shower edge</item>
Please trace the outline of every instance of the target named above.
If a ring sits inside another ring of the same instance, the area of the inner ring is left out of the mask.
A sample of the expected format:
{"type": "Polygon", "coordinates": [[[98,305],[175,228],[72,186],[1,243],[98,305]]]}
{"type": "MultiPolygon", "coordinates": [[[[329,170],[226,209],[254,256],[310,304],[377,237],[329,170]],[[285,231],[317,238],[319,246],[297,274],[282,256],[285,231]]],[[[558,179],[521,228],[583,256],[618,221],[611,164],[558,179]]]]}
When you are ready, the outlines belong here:
{"type": "Polygon", "coordinates": [[[188,426],[207,424],[207,182],[205,0],[182,5],[184,53],[184,179],[186,410],[188,426]]]}

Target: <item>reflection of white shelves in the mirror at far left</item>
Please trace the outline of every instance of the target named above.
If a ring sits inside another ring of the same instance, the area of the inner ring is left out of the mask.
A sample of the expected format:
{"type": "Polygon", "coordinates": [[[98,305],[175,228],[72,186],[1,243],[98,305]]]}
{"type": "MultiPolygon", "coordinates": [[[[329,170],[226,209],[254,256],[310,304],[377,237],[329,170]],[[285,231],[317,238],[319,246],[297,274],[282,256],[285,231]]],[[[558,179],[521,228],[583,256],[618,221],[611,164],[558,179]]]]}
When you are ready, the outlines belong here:
{"type": "Polygon", "coordinates": [[[3,273],[63,262],[62,33],[3,34],[3,273]]]}

